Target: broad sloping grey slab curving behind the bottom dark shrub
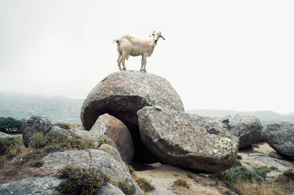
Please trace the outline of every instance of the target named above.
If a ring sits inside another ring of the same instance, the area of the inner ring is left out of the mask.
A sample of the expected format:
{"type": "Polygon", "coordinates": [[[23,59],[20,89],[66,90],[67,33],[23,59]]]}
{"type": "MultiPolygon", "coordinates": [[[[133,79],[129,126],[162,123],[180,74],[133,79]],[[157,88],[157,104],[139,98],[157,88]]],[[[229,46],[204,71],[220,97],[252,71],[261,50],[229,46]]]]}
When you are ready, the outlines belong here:
{"type": "Polygon", "coordinates": [[[129,170],[116,161],[108,153],[99,149],[86,149],[80,151],[54,152],[43,158],[44,168],[58,171],[66,165],[85,166],[95,168],[109,175],[117,182],[128,178],[129,184],[134,186],[136,195],[144,195],[136,181],[132,178],[129,170]]]}

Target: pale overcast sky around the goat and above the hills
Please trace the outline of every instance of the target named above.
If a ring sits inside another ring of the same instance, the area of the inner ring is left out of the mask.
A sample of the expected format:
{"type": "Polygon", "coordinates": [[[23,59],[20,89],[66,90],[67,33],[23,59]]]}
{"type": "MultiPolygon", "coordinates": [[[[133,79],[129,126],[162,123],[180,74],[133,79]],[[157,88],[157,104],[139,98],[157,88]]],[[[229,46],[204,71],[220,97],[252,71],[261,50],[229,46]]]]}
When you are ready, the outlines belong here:
{"type": "Polygon", "coordinates": [[[186,110],[294,112],[293,0],[0,0],[0,91],[85,98],[119,71],[114,39],[155,29],[147,72],[186,110]]]}

